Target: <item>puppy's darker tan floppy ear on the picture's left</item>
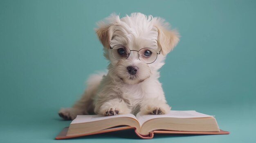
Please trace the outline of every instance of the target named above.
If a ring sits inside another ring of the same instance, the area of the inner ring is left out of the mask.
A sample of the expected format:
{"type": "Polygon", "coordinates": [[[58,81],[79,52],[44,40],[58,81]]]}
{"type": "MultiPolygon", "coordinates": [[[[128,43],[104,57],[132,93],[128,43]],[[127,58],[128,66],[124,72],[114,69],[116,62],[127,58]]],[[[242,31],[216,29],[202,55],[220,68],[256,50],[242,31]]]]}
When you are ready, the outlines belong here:
{"type": "Polygon", "coordinates": [[[95,29],[99,40],[101,41],[102,45],[105,48],[110,47],[110,40],[112,35],[110,33],[110,26],[111,24],[108,24],[108,25],[100,26],[99,28],[95,29]]]}

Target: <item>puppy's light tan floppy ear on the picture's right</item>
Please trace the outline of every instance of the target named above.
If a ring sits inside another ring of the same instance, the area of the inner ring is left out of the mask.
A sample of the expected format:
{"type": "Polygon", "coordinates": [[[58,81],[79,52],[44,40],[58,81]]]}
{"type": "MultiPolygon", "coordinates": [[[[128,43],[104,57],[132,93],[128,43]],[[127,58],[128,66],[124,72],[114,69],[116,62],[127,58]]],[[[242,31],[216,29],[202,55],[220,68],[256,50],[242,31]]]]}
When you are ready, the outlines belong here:
{"type": "Polygon", "coordinates": [[[158,29],[158,46],[161,47],[163,55],[168,54],[179,42],[179,33],[175,30],[167,30],[162,26],[157,27],[158,29]]]}

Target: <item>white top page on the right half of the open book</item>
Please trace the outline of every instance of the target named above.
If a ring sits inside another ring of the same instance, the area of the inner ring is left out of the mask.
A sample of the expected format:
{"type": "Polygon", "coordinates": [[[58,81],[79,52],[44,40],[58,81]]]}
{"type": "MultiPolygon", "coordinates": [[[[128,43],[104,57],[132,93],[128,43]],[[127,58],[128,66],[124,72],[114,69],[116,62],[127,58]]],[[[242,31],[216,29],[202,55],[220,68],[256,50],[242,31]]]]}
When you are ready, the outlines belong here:
{"type": "Polygon", "coordinates": [[[158,115],[141,114],[141,112],[139,112],[136,115],[136,117],[137,117],[137,120],[139,121],[139,125],[141,126],[146,121],[155,119],[155,118],[204,118],[204,117],[214,117],[214,116],[202,114],[193,110],[191,111],[170,110],[168,114],[158,114],[158,115]]]}

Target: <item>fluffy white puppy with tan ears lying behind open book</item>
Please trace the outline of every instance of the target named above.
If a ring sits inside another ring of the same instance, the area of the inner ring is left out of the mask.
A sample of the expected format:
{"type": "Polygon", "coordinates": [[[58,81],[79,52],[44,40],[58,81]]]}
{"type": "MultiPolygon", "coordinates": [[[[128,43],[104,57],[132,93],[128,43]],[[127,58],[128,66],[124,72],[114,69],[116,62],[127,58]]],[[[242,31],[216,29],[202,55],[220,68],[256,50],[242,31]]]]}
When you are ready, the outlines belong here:
{"type": "Polygon", "coordinates": [[[95,29],[110,61],[108,73],[92,75],[81,99],[72,108],[61,108],[63,119],[79,114],[165,114],[166,104],[159,68],[179,42],[162,18],[132,13],[124,18],[112,14],[95,29]]]}

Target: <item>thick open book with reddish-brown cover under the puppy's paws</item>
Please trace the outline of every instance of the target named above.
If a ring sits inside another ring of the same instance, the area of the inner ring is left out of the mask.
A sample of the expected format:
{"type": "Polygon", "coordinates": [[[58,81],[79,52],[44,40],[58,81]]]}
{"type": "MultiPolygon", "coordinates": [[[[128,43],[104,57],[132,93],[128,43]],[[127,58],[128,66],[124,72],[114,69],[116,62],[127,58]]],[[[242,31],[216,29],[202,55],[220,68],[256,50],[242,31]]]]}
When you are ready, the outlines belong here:
{"type": "Polygon", "coordinates": [[[56,139],[68,139],[90,134],[112,132],[134,128],[143,139],[153,138],[154,133],[163,134],[229,134],[220,130],[216,119],[196,111],[174,111],[168,114],[151,115],[122,114],[104,117],[101,115],[78,115],[69,128],[56,136],[56,139]]]}

